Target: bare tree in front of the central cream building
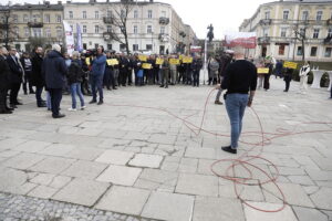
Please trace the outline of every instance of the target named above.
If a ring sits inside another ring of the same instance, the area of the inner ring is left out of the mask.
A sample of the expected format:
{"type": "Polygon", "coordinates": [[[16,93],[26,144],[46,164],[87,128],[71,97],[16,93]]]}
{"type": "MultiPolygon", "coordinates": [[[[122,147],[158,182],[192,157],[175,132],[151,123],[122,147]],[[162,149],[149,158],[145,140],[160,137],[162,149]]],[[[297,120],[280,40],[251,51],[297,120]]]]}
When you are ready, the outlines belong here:
{"type": "Polygon", "coordinates": [[[104,17],[104,22],[112,24],[112,31],[107,31],[108,38],[111,41],[116,41],[121,44],[124,44],[126,48],[126,52],[129,53],[129,44],[128,44],[128,32],[127,32],[127,21],[128,15],[135,3],[133,0],[121,0],[121,2],[114,3],[115,6],[106,9],[111,11],[113,9],[113,13],[104,17]],[[120,30],[120,32],[117,32],[120,30]]]}

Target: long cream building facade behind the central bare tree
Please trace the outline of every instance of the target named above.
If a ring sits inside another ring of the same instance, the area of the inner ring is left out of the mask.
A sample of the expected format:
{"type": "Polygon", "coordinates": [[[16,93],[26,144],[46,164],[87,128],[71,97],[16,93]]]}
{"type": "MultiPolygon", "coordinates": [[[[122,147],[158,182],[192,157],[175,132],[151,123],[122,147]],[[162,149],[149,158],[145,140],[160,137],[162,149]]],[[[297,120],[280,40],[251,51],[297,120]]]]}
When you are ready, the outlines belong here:
{"type": "MultiPolygon", "coordinates": [[[[114,25],[123,10],[122,2],[71,2],[64,6],[64,20],[73,28],[80,25],[84,49],[103,45],[107,50],[125,51],[121,28],[114,25]],[[115,32],[122,42],[112,38],[115,32]]],[[[131,52],[174,53],[186,51],[194,44],[196,34],[184,24],[170,4],[154,1],[132,1],[128,10],[126,32],[131,52]]]]}

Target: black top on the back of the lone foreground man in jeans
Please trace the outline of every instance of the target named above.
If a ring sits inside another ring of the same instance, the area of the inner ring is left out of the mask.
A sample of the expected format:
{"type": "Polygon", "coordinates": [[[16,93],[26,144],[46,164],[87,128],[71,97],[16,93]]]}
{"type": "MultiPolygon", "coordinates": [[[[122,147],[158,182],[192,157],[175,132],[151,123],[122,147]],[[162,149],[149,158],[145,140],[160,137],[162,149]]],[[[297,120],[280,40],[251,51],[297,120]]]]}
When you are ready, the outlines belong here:
{"type": "Polygon", "coordinates": [[[251,62],[238,60],[228,65],[221,84],[228,94],[248,94],[249,91],[256,91],[256,86],[257,69],[251,62]]]}

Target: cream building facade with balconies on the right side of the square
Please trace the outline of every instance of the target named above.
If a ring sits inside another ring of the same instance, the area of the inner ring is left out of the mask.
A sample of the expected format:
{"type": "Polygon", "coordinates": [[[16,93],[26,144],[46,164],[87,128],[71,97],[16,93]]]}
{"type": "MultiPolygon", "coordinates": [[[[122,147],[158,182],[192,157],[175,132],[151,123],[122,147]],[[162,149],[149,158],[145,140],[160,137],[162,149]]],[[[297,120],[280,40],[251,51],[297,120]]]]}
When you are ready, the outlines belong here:
{"type": "Polygon", "coordinates": [[[261,4],[242,22],[241,32],[257,33],[249,57],[332,61],[332,1],[291,0],[261,4]]]}

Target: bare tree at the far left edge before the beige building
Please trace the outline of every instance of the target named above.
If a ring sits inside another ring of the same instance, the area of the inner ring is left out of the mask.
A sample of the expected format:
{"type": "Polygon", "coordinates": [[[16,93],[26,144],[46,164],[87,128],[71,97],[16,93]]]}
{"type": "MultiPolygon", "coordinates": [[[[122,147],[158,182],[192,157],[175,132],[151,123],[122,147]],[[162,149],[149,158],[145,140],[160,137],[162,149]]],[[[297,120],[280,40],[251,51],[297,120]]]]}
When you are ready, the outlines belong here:
{"type": "Polygon", "coordinates": [[[0,21],[0,42],[4,43],[8,48],[10,42],[13,42],[19,38],[19,34],[14,30],[13,18],[11,18],[10,6],[0,6],[0,14],[2,19],[0,21]]]}

